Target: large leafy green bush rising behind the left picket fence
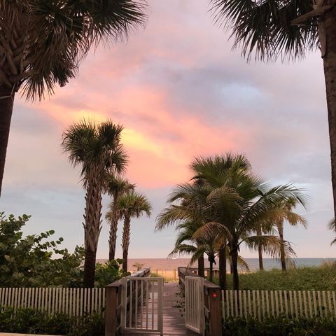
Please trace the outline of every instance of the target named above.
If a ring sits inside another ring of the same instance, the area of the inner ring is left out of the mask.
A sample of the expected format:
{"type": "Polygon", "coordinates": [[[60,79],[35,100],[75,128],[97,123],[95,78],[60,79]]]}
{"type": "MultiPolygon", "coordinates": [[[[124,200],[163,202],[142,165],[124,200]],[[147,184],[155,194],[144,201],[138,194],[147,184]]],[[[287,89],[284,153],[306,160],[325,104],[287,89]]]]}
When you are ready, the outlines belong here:
{"type": "Polygon", "coordinates": [[[73,253],[60,249],[62,237],[48,240],[53,230],[22,237],[22,227],[29,218],[6,218],[0,213],[0,286],[79,286],[83,279],[83,248],[76,246],[73,253]]]}

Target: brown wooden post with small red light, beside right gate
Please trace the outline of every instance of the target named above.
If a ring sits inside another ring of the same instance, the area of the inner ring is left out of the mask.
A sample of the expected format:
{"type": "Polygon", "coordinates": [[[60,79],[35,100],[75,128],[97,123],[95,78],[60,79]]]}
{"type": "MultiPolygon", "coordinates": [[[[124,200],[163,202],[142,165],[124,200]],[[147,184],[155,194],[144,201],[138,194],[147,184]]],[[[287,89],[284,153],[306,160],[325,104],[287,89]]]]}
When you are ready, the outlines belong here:
{"type": "Polygon", "coordinates": [[[209,327],[211,336],[222,335],[222,316],[221,316],[221,288],[216,286],[209,287],[209,327]]]}

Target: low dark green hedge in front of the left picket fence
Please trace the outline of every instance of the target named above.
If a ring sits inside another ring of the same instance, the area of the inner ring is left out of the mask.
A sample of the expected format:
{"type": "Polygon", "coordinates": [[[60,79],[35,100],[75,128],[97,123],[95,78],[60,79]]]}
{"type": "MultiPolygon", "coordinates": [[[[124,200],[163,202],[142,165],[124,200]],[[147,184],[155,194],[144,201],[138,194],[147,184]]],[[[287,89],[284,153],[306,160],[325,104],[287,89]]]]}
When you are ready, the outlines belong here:
{"type": "Polygon", "coordinates": [[[104,336],[104,318],[101,314],[70,317],[65,314],[47,316],[41,311],[19,309],[13,317],[13,309],[0,311],[0,332],[18,332],[40,335],[104,336]]]}

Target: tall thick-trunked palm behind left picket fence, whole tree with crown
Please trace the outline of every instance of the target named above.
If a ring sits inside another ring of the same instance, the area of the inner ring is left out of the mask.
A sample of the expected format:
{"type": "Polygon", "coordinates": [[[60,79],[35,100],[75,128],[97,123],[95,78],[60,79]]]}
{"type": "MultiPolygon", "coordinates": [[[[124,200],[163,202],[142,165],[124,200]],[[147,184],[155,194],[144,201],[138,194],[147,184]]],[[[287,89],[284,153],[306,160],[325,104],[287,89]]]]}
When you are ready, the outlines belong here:
{"type": "Polygon", "coordinates": [[[97,245],[102,230],[102,193],[106,190],[107,176],[121,173],[126,167],[127,155],[120,144],[122,130],[122,126],[111,120],[99,125],[83,120],[71,125],[62,137],[62,147],[69,161],[73,167],[81,167],[85,189],[84,287],[94,286],[97,245]]]}

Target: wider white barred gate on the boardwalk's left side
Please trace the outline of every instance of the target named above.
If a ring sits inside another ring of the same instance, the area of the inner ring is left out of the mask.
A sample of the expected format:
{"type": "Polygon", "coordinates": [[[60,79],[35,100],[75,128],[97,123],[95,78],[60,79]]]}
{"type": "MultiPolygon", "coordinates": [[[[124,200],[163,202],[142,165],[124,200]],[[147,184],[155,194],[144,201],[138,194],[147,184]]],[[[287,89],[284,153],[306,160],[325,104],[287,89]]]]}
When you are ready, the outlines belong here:
{"type": "Polygon", "coordinates": [[[123,278],[123,332],[162,333],[163,278],[123,278]]]}

